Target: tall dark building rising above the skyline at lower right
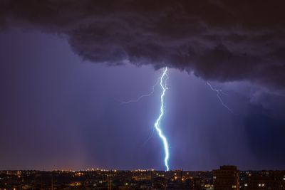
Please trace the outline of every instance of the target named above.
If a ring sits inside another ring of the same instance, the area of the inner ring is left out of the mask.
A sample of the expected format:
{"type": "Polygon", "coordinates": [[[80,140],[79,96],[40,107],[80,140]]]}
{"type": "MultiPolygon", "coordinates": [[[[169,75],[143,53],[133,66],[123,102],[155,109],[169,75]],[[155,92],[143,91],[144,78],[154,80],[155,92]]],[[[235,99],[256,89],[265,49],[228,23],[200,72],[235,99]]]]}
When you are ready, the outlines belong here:
{"type": "Polygon", "coordinates": [[[238,190],[239,171],[235,166],[222,166],[213,170],[214,190],[238,190]]]}

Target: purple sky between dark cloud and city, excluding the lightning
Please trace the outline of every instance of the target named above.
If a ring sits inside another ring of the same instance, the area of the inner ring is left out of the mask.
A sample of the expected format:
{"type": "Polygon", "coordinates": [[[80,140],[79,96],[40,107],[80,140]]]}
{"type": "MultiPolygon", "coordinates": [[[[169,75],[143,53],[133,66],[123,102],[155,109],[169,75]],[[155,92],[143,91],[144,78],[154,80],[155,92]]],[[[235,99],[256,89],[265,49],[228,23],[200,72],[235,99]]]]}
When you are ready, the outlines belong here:
{"type": "MultiPolygon", "coordinates": [[[[145,142],[160,89],[120,105],[150,92],[162,70],[83,61],[65,38],[37,31],[11,29],[0,39],[1,169],[163,169],[157,134],[145,142]]],[[[169,75],[162,123],[172,169],[284,169],[282,97],[249,83],[212,83],[227,93],[232,115],[204,80],[169,75]]]]}

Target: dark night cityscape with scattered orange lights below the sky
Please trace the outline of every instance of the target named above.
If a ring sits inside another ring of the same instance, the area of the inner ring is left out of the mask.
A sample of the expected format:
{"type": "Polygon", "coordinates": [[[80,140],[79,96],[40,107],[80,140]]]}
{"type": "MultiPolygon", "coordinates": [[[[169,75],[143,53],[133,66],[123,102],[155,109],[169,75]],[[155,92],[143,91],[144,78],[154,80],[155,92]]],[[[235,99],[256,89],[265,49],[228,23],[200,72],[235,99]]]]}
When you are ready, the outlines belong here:
{"type": "Polygon", "coordinates": [[[285,170],[239,171],[221,166],[212,171],[0,171],[0,189],[284,190],[285,170]]]}

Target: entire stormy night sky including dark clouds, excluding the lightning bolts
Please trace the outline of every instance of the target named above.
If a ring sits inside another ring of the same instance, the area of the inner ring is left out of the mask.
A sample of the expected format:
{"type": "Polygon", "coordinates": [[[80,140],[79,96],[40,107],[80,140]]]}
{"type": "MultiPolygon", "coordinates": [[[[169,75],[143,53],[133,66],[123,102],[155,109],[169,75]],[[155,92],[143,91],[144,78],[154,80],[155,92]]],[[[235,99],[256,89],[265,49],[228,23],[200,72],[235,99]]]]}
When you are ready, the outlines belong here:
{"type": "Polygon", "coordinates": [[[285,169],[284,9],[0,0],[0,169],[285,169]]]}

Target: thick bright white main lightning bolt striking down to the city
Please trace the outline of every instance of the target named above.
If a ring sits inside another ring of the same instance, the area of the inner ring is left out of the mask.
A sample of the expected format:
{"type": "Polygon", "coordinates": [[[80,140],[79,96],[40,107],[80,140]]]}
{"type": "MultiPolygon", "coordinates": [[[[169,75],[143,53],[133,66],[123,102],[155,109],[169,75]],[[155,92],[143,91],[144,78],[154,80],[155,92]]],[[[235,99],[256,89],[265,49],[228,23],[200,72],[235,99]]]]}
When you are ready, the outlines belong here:
{"type": "Polygon", "coordinates": [[[163,134],[161,128],[160,128],[160,120],[162,119],[162,116],[164,114],[164,97],[165,97],[165,92],[167,90],[167,85],[166,85],[166,80],[168,78],[167,75],[167,67],[165,67],[165,70],[163,71],[161,77],[160,77],[160,87],[162,88],[162,94],[160,95],[160,115],[157,117],[157,120],[155,121],[155,130],[157,131],[158,135],[160,136],[160,139],[162,139],[163,147],[165,149],[165,167],[166,171],[169,171],[169,166],[168,166],[168,159],[170,157],[169,155],[169,146],[167,139],[165,135],[163,134]],[[165,78],[165,84],[163,85],[163,78],[165,78]]]}

